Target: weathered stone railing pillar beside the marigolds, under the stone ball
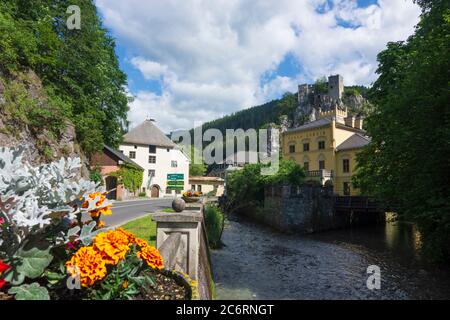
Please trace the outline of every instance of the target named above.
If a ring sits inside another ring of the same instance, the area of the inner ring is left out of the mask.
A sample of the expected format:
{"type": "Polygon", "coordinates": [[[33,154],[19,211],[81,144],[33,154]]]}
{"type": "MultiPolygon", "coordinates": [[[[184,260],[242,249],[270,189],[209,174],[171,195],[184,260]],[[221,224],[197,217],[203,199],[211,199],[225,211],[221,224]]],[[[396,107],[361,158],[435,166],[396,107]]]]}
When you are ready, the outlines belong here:
{"type": "Polygon", "coordinates": [[[212,273],[208,239],[201,204],[190,204],[182,212],[160,212],[156,222],[156,246],[166,269],[186,273],[198,281],[199,298],[212,298],[212,273]]]}

